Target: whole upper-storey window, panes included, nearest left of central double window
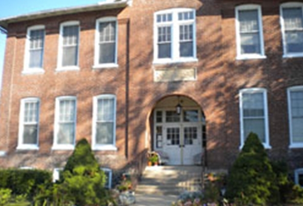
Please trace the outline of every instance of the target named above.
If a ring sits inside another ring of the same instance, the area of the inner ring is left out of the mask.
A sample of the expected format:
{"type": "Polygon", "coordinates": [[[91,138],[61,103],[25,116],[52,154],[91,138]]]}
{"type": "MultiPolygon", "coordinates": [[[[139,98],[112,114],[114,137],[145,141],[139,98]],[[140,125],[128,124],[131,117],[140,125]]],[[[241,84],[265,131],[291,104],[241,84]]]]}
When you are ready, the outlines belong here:
{"type": "Polygon", "coordinates": [[[118,28],[116,17],[96,21],[94,68],[117,67],[118,28]]]}

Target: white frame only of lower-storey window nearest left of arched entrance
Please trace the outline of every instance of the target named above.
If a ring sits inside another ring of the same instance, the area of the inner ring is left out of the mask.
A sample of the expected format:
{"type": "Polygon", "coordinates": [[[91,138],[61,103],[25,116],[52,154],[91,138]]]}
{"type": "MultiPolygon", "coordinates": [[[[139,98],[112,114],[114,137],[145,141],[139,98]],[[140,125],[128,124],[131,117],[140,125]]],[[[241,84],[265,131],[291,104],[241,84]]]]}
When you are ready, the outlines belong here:
{"type": "Polygon", "coordinates": [[[113,94],[98,95],[93,98],[93,124],[92,124],[92,150],[112,150],[117,151],[116,147],[116,121],[117,121],[117,98],[113,94]],[[113,120],[113,144],[96,144],[96,129],[97,129],[97,111],[99,99],[114,99],[114,120],[113,120]]]}

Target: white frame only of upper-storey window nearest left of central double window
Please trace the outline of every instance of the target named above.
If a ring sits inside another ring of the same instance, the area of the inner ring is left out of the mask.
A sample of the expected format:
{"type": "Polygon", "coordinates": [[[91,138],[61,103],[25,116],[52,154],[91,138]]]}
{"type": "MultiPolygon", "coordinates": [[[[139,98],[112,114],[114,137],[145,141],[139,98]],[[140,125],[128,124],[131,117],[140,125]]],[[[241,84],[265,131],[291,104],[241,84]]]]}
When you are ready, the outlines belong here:
{"type": "Polygon", "coordinates": [[[96,30],[95,30],[95,52],[94,52],[94,69],[98,68],[116,68],[118,67],[118,19],[115,16],[107,16],[101,17],[96,20],[96,30]],[[115,61],[113,63],[99,63],[100,51],[99,51],[99,43],[100,43],[100,32],[99,25],[102,22],[110,22],[115,21],[116,23],[116,33],[115,33],[115,61]]]}

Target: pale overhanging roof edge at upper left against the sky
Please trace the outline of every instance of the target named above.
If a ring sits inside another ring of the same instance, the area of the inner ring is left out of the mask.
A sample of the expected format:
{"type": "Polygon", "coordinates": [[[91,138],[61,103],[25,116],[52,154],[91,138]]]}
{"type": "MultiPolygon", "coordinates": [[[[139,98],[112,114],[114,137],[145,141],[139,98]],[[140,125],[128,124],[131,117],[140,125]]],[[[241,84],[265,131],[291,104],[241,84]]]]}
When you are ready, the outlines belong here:
{"type": "Polygon", "coordinates": [[[29,13],[29,14],[22,14],[22,15],[7,17],[7,18],[1,18],[0,27],[7,30],[8,24],[13,23],[13,22],[45,18],[45,17],[51,17],[51,16],[59,16],[62,14],[73,14],[73,13],[86,12],[86,11],[97,11],[97,10],[123,8],[123,7],[126,7],[127,5],[131,5],[131,4],[132,4],[131,0],[107,0],[105,2],[100,2],[98,4],[93,4],[93,5],[66,7],[66,8],[38,11],[38,12],[29,13]]]}

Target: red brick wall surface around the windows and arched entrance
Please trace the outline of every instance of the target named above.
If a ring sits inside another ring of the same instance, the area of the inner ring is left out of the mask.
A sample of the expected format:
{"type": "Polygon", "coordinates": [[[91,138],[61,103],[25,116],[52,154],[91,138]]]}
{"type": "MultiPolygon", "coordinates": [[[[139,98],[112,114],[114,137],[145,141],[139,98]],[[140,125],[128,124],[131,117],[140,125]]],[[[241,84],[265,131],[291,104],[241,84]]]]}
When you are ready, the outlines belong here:
{"type": "MultiPolygon", "coordinates": [[[[91,142],[92,100],[100,94],[117,96],[117,152],[96,152],[104,165],[125,167],[145,149],[149,115],[168,95],[184,95],[196,101],[207,119],[207,151],[210,168],[228,168],[240,146],[239,90],[263,87],[268,91],[269,150],[272,158],[285,158],[303,167],[303,149],[289,149],[286,89],[303,85],[302,58],[283,59],[278,1],[134,0],[124,10],[63,15],[9,25],[0,119],[0,149],[7,150],[7,166],[63,163],[70,152],[52,151],[54,107],[58,96],[77,96],[76,138],[91,142]],[[235,60],[234,8],[240,4],[262,6],[266,59],[235,60]],[[154,12],[169,8],[197,11],[198,62],[153,64],[154,12]],[[118,16],[119,68],[92,70],[95,20],[118,16]],[[60,22],[79,20],[80,71],[55,72],[60,22]],[[22,75],[27,27],[46,25],[43,75],[22,75]],[[128,52],[129,51],[129,52],[128,52]],[[197,68],[197,81],[154,82],[154,70],[197,68]],[[20,99],[39,97],[39,151],[16,151],[20,99]],[[127,142],[125,143],[125,140],[127,142]],[[26,157],[27,156],[27,157],[26,157]],[[126,156],[128,159],[126,159],[126,156]],[[30,162],[29,159],[36,159],[30,162]],[[28,162],[27,162],[28,161],[28,162]]],[[[2,158],[4,159],[4,158],[2,158]]],[[[29,165],[26,165],[29,166],[29,165]]]]}

